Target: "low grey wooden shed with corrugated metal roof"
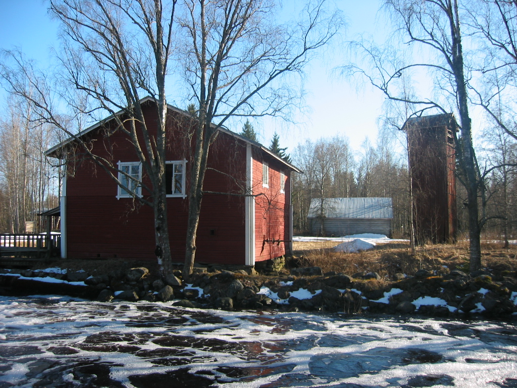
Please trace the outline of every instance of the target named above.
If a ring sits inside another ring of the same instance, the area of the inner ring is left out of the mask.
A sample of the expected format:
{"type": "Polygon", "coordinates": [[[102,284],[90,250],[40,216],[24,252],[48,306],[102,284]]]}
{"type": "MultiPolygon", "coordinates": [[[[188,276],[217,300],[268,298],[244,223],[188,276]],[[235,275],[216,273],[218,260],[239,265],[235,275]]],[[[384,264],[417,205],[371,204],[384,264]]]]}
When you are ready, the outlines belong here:
{"type": "Polygon", "coordinates": [[[309,208],[314,236],[346,236],[360,233],[391,237],[391,198],[314,198],[309,208]]]}

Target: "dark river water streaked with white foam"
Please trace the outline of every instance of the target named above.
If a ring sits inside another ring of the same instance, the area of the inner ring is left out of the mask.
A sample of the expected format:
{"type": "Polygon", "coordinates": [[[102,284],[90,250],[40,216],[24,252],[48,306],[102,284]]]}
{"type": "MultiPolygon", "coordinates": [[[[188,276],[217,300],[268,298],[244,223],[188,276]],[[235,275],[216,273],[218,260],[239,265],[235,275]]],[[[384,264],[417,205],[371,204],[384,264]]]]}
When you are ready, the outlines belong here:
{"type": "Polygon", "coordinates": [[[0,297],[0,388],[517,387],[512,323],[0,297]]]}

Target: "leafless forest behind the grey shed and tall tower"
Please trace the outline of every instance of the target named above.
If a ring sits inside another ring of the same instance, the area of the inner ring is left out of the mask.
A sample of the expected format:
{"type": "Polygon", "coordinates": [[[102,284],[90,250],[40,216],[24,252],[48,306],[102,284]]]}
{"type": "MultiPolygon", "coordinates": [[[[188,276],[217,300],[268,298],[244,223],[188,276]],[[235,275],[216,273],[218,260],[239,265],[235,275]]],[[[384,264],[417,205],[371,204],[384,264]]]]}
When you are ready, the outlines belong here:
{"type": "MultiPolygon", "coordinates": [[[[411,200],[404,132],[384,130],[372,145],[365,140],[353,150],[346,137],[306,140],[291,153],[303,174],[293,174],[292,201],[295,234],[309,233],[307,220],[313,198],[389,197],[393,200],[394,236],[409,238],[411,200]]],[[[483,195],[480,208],[489,221],[486,235],[508,240],[516,233],[517,148],[513,139],[490,128],[483,140],[490,147],[479,150],[483,195]]],[[[457,181],[460,238],[468,230],[466,192],[457,181]]]]}

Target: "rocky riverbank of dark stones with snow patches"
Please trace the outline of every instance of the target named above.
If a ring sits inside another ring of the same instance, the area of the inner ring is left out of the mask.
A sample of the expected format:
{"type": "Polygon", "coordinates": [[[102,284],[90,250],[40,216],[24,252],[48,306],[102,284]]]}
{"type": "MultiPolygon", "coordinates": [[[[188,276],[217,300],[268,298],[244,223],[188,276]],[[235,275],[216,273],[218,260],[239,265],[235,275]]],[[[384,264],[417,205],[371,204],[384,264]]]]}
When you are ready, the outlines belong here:
{"type": "Polygon", "coordinates": [[[387,281],[376,273],[322,273],[319,267],[293,268],[284,276],[260,276],[252,268],[226,271],[195,268],[188,280],[180,272],[150,280],[144,267],[90,276],[84,271],[0,270],[4,293],[47,292],[100,301],[173,301],[182,307],[281,309],[449,317],[517,315],[517,273],[489,271],[447,274],[419,270],[387,281]]]}

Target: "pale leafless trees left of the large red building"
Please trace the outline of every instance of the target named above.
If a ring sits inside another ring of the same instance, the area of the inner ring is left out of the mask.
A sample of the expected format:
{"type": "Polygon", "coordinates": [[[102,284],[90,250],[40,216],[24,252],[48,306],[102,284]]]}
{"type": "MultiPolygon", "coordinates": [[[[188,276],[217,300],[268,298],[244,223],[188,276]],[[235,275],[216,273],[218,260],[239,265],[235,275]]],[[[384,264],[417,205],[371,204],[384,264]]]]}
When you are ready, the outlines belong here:
{"type": "Polygon", "coordinates": [[[0,115],[0,232],[24,233],[26,221],[43,231],[39,214],[59,203],[59,167],[44,155],[57,141],[27,103],[9,100],[0,115]]]}

